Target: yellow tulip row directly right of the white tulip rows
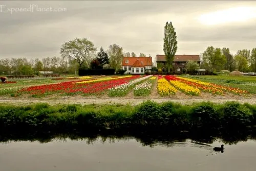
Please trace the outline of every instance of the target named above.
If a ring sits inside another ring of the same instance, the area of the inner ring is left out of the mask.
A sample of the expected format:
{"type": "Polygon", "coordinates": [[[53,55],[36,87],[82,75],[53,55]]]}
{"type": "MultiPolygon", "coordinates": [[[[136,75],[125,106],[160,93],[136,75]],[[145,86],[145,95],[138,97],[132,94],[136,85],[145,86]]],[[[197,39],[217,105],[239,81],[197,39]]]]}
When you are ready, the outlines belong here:
{"type": "Polygon", "coordinates": [[[170,85],[168,83],[167,80],[165,80],[164,78],[160,78],[158,79],[157,82],[157,90],[160,96],[167,96],[170,94],[176,94],[176,92],[178,91],[175,87],[173,87],[172,85],[170,85]]]}

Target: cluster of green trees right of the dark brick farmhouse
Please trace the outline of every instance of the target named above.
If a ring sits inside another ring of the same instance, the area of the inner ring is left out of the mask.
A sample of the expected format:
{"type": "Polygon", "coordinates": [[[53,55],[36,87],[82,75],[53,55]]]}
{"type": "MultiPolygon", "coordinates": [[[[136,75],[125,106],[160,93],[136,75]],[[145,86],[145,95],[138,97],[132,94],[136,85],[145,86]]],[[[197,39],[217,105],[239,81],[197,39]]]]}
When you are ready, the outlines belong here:
{"type": "Polygon", "coordinates": [[[256,72],[256,48],[238,50],[233,56],[229,48],[208,46],[202,54],[201,68],[209,71],[239,70],[256,72]]]}

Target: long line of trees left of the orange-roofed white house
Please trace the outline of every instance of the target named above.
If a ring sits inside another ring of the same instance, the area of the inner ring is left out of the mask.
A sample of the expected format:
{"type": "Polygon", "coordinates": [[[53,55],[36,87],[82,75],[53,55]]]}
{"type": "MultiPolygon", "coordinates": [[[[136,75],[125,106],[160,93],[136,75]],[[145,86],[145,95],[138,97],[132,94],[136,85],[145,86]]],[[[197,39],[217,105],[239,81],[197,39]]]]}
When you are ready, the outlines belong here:
{"type": "MultiPolygon", "coordinates": [[[[93,42],[86,38],[76,38],[65,42],[60,48],[60,57],[42,59],[6,58],[0,59],[0,75],[39,75],[39,71],[53,71],[54,74],[77,74],[78,69],[121,69],[123,57],[136,57],[124,53],[117,44],[99,52],[93,42]]],[[[140,53],[140,57],[145,54],[140,53]]]]}

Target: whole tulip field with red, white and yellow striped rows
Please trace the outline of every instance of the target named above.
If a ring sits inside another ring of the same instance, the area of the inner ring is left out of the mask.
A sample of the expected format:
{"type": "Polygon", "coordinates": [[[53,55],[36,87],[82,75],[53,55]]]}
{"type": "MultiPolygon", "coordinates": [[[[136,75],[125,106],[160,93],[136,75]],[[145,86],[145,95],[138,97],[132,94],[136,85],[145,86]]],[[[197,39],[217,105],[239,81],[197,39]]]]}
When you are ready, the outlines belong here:
{"type": "Polygon", "coordinates": [[[0,96],[11,95],[41,97],[48,95],[105,95],[122,97],[128,94],[150,96],[156,92],[159,97],[175,97],[177,93],[200,96],[202,92],[225,96],[248,95],[248,91],[230,86],[218,85],[179,76],[123,75],[123,76],[84,76],[45,80],[13,81],[0,84],[0,96]]]}

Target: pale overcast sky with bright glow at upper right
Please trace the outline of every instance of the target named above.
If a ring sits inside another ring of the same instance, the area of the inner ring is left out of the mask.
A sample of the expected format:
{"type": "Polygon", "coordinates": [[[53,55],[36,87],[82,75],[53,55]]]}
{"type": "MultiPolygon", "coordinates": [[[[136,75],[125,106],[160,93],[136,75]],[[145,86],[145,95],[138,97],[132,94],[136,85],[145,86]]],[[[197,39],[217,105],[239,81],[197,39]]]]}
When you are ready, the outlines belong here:
{"type": "Polygon", "coordinates": [[[0,58],[58,57],[61,44],[76,37],[91,40],[98,49],[117,43],[124,52],[155,57],[163,54],[166,21],[175,27],[177,55],[201,54],[210,45],[229,47],[232,54],[256,47],[256,1],[0,1],[0,5],[0,58]],[[22,11],[30,7],[30,12],[22,11]],[[53,11],[40,11],[43,8],[53,11]]]}

